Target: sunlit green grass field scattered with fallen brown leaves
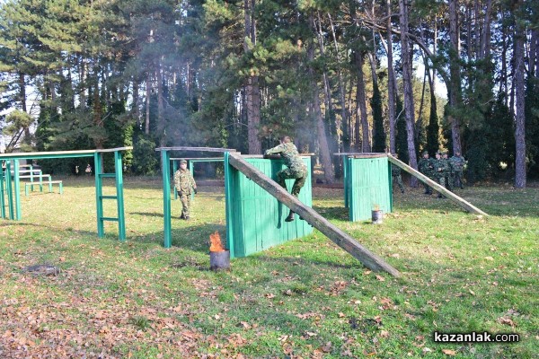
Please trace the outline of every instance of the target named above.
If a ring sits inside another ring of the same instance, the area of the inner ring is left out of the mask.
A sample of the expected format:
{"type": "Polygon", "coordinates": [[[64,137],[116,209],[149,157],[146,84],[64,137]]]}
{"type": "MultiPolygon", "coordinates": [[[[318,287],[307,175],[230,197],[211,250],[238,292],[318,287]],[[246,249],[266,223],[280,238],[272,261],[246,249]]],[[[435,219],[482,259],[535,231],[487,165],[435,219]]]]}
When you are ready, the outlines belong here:
{"type": "MultiPolygon", "coordinates": [[[[111,182],[105,194],[112,194],[111,182]]],[[[91,179],[64,195],[22,196],[21,222],[0,221],[0,357],[532,358],[539,352],[539,188],[466,188],[489,217],[411,190],[384,223],[349,223],[342,190],[314,207],[401,271],[372,273],[320,232],[208,270],[208,237],[225,235],[223,188],[200,187],[193,220],[163,192],[126,179],[128,241],[98,240],[91,179]],[[58,276],[22,268],[49,263],[58,276]],[[515,332],[515,344],[437,344],[433,332],[515,332]],[[446,351],[446,352],[444,352],[446,351]],[[446,354],[445,354],[446,353],[446,354]],[[211,356],[210,356],[211,357],[211,356]]],[[[115,215],[105,202],[105,215],[115,215]]]]}

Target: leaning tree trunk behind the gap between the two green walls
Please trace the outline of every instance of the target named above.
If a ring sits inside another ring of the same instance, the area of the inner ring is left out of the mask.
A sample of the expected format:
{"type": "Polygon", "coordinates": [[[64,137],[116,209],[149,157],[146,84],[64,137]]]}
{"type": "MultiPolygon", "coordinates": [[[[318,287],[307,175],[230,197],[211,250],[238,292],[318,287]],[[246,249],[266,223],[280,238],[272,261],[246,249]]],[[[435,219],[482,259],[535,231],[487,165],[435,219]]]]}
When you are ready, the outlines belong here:
{"type": "MultiPolygon", "coordinates": [[[[312,19],[311,19],[312,20],[312,19]]],[[[312,23],[312,22],[311,22],[312,23]]],[[[314,48],[310,46],[308,49],[309,62],[312,63],[314,60],[314,48]]],[[[314,118],[316,121],[316,129],[318,133],[318,145],[320,146],[320,157],[322,158],[323,166],[323,176],[326,183],[333,183],[335,175],[333,172],[333,167],[331,163],[331,153],[330,146],[328,144],[328,137],[326,136],[325,124],[323,123],[322,110],[320,109],[320,94],[318,93],[318,83],[314,77],[314,69],[311,64],[309,64],[309,77],[311,81],[311,88],[313,90],[313,108],[314,108],[314,118]]]]}

